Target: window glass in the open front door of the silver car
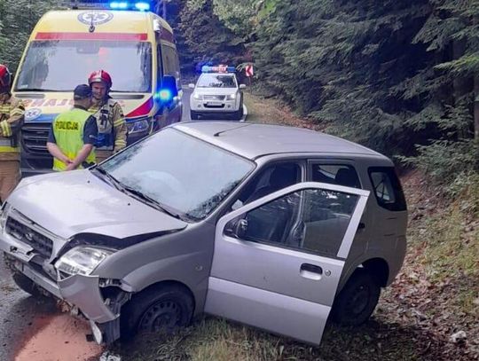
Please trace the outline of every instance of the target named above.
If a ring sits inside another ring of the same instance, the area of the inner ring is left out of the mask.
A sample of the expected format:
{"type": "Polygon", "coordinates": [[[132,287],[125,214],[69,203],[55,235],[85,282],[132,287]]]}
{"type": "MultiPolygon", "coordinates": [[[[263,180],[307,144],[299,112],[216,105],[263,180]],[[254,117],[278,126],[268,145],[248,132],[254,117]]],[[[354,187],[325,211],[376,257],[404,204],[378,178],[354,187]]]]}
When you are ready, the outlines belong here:
{"type": "Polygon", "coordinates": [[[358,196],[308,189],[289,193],[233,219],[225,234],[335,257],[358,196]]]}

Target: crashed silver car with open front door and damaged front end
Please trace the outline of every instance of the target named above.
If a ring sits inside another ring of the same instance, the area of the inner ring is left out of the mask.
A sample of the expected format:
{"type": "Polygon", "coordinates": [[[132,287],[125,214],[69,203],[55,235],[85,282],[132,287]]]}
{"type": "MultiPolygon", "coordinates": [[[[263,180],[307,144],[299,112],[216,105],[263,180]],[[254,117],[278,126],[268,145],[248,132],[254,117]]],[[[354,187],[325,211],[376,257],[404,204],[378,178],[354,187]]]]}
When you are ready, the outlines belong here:
{"type": "Polygon", "coordinates": [[[100,165],[23,179],[0,248],[96,341],[208,313],[318,344],[359,325],[404,261],[393,163],[307,129],[182,122],[100,165]]]}

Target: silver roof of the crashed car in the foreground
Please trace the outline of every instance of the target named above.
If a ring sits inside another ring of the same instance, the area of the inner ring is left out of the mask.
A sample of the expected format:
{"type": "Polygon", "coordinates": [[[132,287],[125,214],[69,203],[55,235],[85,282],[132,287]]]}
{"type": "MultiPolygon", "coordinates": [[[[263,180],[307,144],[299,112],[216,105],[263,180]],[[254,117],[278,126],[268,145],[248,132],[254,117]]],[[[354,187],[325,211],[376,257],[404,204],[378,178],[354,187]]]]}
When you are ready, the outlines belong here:
{"type": "Polygon", "coordinates": [[[363,145],[310,129],[249,122],[180,122],[173,128],[251,160],[279,153],[361,154],[388,160],[363,145]]]}

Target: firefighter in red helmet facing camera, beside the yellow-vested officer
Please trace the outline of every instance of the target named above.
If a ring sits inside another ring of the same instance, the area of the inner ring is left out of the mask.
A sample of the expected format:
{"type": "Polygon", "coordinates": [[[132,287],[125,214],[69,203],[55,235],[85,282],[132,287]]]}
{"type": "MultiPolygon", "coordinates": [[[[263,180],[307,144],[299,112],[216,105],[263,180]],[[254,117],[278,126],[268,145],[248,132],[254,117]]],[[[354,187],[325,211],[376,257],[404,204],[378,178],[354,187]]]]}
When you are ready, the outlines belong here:
{"type": "Polygon", "coordinates": [[[91,73],[88,83],[93,92],[93,105],[89,111],[97,118],[96,154],[97,162],[100,162],[126,146],[127,127],[122,106],[108,95],[112,89],[111,76],[105,70],[98,70],[91,73]]]}

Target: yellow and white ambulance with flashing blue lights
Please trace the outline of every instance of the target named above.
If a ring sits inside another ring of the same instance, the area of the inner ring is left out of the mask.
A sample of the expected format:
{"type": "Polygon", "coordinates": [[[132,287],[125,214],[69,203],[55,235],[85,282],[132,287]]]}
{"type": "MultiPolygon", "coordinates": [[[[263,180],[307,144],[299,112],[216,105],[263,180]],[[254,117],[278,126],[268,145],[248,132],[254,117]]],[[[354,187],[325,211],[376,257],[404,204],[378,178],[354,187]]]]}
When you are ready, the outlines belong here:
{"type": "Polygon", "coordinates": [[[72,3],[43,15],[30,35],[12,85],[26,105],[24,176],[51,171],[46,141],[55,117],[73,105],[73,90],[91,72],[113,78],[110,96],[122,105],[128,144],[181,121],[182,96],[173,31],[149,3],[72,3]]]}

